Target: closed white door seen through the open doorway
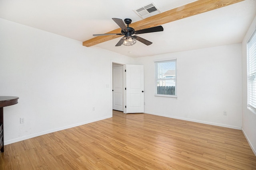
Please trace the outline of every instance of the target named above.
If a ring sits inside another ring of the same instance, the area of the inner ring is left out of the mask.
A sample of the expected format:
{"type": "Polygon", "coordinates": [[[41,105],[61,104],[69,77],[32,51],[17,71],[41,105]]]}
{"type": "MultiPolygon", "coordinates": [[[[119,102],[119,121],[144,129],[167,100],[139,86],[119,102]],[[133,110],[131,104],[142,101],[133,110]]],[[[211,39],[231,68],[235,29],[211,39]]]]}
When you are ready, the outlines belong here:
{"type": "Polygon", "coordinates": [[[112,105],[114,110],[124,111],[123,102],[123,66],[114,66],[112,68],[112,105]]]}

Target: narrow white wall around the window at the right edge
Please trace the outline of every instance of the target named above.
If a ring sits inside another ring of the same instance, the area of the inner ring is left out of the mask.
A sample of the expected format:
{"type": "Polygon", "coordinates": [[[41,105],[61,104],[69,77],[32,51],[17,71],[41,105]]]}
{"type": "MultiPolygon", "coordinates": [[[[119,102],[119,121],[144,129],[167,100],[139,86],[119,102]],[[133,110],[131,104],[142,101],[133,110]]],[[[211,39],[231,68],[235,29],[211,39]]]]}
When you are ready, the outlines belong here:
{"type": "Polygon", "coordinates": [[[247,109],[247,52],[246,44],[256,29],[256,17],[249,27],[242,42],[242,131],[256,155],[256,114],[247,109]]]}

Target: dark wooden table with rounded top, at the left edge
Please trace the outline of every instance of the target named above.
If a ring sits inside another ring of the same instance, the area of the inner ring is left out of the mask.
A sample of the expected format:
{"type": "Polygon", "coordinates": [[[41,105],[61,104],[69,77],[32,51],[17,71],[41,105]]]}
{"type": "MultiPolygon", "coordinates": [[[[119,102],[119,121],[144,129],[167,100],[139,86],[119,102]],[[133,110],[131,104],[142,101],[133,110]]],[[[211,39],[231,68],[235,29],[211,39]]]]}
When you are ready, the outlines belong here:
{"type": "Polygon", "coordinates": [[[0,96],[0,150],[4,152],[4,107],[18,103],[16,96],[0,96]]]}

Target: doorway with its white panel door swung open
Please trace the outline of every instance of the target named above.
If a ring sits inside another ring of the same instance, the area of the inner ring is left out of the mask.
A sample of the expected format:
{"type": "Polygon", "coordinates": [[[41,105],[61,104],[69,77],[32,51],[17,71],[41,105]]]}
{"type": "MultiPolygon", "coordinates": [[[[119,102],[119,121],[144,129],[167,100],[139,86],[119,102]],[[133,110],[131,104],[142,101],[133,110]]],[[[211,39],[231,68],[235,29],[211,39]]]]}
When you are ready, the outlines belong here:
{"type": "Polygon", "coordinates": [[[112,62],[112,109],[144,113],[143,65],[112,62]]]}

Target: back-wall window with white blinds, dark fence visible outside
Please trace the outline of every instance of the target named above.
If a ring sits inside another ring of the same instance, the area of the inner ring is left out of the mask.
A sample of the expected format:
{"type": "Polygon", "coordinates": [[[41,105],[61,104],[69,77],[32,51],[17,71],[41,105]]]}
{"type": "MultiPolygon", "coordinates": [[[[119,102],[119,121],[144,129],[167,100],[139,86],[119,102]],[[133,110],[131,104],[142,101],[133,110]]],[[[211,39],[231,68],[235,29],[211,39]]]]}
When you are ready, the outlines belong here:
{"type": "Polygon", "coordinates": [[[155,96],[177,97],[176,59],[155,62],[155,96]]]}

